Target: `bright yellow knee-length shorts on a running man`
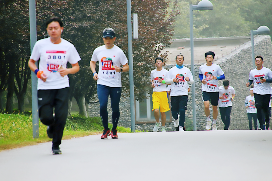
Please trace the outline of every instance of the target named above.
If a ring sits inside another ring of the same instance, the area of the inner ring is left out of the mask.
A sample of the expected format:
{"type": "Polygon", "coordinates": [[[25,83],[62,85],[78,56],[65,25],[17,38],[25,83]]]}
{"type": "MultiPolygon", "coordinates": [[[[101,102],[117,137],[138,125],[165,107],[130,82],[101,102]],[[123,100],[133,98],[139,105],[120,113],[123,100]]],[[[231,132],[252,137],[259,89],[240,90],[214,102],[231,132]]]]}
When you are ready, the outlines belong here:
{"type": "Polygon", "coordinates": [[[160,109],[160,112],[169,111],[169,103],[167,98],[167,91],[153,92],[152,94],[153,109],[160,109]]]}

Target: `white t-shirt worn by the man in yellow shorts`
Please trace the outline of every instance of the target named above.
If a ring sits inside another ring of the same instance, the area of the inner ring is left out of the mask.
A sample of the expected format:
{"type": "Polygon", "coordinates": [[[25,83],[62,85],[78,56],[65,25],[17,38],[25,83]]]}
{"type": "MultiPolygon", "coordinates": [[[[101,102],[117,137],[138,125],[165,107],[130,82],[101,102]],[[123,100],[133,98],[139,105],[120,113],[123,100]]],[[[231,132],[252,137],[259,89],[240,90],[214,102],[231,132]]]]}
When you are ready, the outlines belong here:
{"type": "Polygon", "coordinates": [[[157,69],[152,70],[150,74],[150,80],[154,80],[155,87],[153,88],[153,92],[163,92],[167,91],[166,84],[160,83],[158,79],[166,80],[168,75],[168,71],[166,69],[161,69],[157,71],[157,69]]]}

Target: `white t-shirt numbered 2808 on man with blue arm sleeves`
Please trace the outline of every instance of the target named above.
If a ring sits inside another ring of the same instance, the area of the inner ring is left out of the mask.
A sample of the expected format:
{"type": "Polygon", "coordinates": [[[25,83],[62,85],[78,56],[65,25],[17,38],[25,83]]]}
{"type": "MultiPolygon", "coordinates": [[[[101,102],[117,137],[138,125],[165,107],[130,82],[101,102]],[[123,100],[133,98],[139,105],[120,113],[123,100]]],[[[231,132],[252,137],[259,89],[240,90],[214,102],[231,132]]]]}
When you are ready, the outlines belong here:
{"type": "Polygon", "coordinates": [[[202,92],[218,92],[218,80],[212,79],[212,76],[221,76],[224,74],[223,70],[219,65],[212,64],[207,66],[207,64],[201,65],[199,68],[199,74],[203,74],[203,79],[207,81],[206,84],[202,83],[202,92]]]}

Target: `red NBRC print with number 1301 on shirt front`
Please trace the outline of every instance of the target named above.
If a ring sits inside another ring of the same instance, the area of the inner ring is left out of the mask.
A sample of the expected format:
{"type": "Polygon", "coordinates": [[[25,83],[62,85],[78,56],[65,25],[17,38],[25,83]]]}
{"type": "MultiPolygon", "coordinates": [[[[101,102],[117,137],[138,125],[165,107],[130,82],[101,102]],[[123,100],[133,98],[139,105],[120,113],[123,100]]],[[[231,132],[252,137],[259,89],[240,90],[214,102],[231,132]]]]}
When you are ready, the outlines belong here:
{"type": "Polygon", "coordinates": [[[114,69],[113,62],[111,58],[103,57],[102,62],[102,78],[115,79],[117,72],[114,69]]]}

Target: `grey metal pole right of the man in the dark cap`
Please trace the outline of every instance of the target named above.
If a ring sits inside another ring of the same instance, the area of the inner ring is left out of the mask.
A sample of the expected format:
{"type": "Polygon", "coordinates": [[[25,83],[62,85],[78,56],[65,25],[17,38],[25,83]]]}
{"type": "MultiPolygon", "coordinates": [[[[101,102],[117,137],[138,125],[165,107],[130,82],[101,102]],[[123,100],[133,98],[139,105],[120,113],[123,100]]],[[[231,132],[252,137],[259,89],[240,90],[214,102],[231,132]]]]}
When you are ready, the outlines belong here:
{"type": "Polygon", "coordinates": [[[133,57],[132,57],[132,28],[131,28],[131,4],[126,1],[127,35],[129,48],[129,93],[130,93],[130,120],[131,131],[135,132],[135,106],[134,106],[134,80],[133,80],[133,57]]]}

